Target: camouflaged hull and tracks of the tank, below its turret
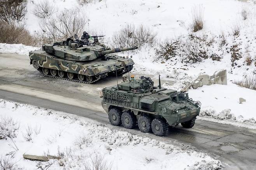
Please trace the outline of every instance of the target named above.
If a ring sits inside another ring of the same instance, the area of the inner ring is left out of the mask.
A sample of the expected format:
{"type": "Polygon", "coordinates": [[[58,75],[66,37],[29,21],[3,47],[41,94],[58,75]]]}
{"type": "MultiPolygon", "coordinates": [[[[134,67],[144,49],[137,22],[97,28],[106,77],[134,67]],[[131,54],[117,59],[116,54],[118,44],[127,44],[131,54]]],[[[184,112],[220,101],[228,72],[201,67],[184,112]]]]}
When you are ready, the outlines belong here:
{"type": "Polygon", "coordinates": [[[30,64],[33,64],[44,76],[77,80],[82,83],[96,82],[116,71],[118,75],[122,75],[130,71],[134,64],[132,59],[113,54],[105,55],[105,60],[98,58],[93,61],[70,61],[48,54],[43,50],[35,50],[29,52],[29,57],[30,64]],[[63,76],[58,75],[61,71],[64,73],[63,76]]]}

